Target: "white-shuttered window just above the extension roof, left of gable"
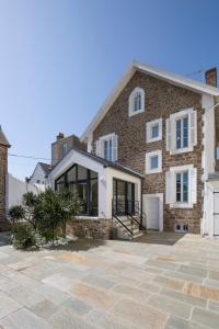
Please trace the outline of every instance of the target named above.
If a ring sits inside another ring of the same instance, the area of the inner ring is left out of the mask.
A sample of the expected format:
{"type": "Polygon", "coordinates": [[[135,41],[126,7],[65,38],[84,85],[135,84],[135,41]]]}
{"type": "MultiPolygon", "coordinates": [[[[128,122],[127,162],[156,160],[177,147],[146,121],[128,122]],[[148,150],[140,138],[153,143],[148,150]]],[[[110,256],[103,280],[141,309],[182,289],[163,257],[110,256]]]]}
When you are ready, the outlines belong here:
{"type": "Polygon", "coordinates": [[[110,134],[96,140],[96,156],[108,161],[117,160],[117,135],[110,134]]]}

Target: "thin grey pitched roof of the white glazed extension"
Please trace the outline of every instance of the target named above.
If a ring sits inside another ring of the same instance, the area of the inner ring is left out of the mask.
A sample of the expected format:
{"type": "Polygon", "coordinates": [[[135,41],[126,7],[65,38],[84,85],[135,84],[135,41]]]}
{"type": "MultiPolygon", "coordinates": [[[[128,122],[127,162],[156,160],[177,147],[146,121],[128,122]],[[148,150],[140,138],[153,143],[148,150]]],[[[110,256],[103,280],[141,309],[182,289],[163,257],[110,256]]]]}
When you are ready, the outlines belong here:
{"type": "MultiPolygon", "coordinates": [[[[82,150],[78,147],[71,147],[68,152],[64,156],[64,158],[61,158],[50,170],[50,172],[67,157],[67,155],[72,151],[72,150],[76,150],[78,151],[79,154],[90,158],[90,159],[93,159],[94,161],[96,162],[100,162],[101,164],[103,164],[104,168],[107,168],[107,167],[111,167],[111,168],[114,168],[116,170],[119,170],[119,171],[123,171],[123,172],[126,172],[126,173],[129,173],[129,174],[132,174],[132,175],[136,175],[138,178],[143,178],[142,174],[140,174],[139,172],[128,168],[128,167],[125,167],[125,166],[122,166],[119,163],[116,163],[116,162],[112,162],[112,161],[108,161],[108,160],[105,160],[104,158],[101,158],[101,157],[97,157],[93,154],[90,154],[90,152],[87,152],[85,150],[82,150]]],[[[50,173],[49,172],[49,173],[50,173]]]]}

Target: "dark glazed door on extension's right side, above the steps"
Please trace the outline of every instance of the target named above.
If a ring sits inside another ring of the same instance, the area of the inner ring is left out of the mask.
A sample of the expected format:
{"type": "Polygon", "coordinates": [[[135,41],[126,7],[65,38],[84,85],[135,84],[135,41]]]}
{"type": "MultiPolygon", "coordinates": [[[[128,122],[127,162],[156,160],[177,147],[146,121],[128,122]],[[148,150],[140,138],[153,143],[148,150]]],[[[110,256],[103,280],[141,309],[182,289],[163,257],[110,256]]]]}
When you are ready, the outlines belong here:
{"type": "Polygon", "coordinates": [[[113,180],[113,206],[116,214],[134,214],[135,184],[118,179],[113,180]]]}

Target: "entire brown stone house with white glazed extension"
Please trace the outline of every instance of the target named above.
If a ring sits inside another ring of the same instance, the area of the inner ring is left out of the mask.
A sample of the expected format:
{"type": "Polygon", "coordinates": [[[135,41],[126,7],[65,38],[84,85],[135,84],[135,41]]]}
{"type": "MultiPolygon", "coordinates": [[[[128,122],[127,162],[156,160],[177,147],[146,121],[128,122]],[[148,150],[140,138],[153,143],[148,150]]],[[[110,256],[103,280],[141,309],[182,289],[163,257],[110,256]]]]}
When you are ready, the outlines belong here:
{"type": "Polygon", "coordinates": [[[206,82],[130,65],[81,136],[87,151],[73,145],[53,162],[53,186],[84,202],[74,231],[107,236],[116,225],[128,237],[142,227],[219,235],[208,197],[219,181],[216,69],[206,82]]]}

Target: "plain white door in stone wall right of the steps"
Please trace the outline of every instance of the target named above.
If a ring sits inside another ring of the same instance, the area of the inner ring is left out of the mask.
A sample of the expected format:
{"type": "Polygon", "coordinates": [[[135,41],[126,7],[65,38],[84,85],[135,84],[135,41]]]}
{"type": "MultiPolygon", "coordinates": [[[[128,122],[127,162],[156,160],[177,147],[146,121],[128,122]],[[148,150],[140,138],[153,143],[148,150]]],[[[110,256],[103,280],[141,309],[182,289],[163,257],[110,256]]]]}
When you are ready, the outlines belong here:
{"type": "Polygon", "coordinates": [[[148,229],[159,229],[159,197],[143,195],[143,212],[147,215],[148,229]]]}

